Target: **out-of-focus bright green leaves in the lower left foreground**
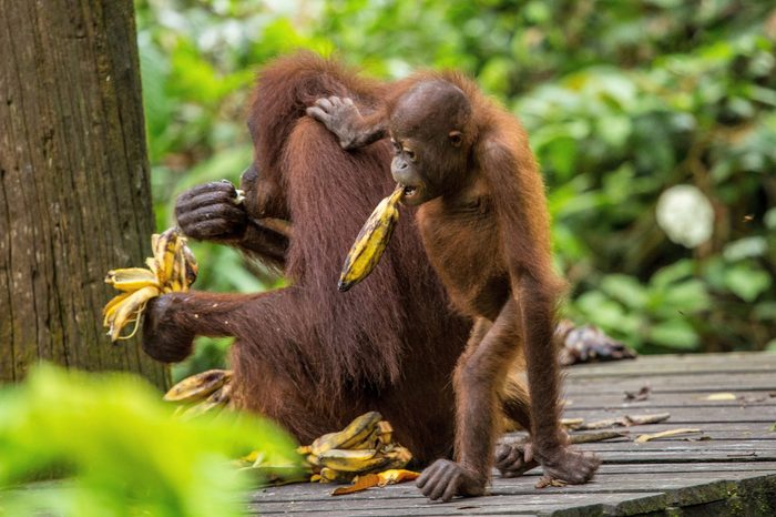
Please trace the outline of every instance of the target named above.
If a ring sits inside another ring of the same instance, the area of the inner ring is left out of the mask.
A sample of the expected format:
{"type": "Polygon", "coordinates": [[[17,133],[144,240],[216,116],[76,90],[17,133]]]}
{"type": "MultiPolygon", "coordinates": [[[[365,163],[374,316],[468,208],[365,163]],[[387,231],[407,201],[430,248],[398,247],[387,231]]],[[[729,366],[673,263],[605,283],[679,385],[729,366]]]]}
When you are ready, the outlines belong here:
{"type": "Polygon", "coordinates": [[[171,412],[125,374],[44,365],[2,388],[0,515],[237,516],[249,479],[232,459],[261,449],[295,462],[293,442],[268,422],[171,412]]]}

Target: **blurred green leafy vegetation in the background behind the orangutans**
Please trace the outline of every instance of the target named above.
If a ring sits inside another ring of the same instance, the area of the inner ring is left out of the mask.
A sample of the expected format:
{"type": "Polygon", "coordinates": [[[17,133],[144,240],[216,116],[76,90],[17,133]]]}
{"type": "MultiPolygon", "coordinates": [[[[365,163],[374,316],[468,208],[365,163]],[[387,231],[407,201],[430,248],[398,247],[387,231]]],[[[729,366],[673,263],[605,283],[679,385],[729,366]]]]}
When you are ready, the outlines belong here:
{"type": "MultiPolygon", "coordinates": [[[[573,318],[642,352],[776,348],[769,4],[141,0],[159,227],[172,224],[182,190],[236,181],[248,163],[244,109],[267,60],[308,48],[384,79],[457,68],[531,134],[573,318]],[[657,202],[674,185],[694,196],[675,200],[657,224],[657,202]],[[687,244],[683,231],[711,237],[687,244]]],[[[272,287],[231,250],[195,253],[200,288],[272,287]]],[[[202,344],[183,371],[217,363],[227,345],[202,344]]]]}

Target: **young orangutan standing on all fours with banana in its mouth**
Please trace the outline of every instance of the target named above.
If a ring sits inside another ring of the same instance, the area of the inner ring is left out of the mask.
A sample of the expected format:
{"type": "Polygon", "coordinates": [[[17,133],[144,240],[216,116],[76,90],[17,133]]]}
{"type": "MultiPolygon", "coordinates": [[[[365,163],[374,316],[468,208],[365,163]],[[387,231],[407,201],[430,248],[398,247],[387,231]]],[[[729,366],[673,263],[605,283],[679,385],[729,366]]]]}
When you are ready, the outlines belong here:
{"type": "Polygon", "coordinates": [[[524,456],[500,449],[499,468],[509,475],[535,459],[545,476],[588,481],[599,458],[571,449],[560,427],[552,341],[563,283],[552,271],[544,185],[520,123],[456,73],[400,81],[365,115],[338,97],[307,113],[345,149],[390,136],[391,173],[405,186],[404,203],[419,205],[428,257],[456,307],[474,318],[453,376],[456,460],[426,468],[420,490],[445,501],[486,493],[507,374],[521,348],[532,443],[524,456]]]}

